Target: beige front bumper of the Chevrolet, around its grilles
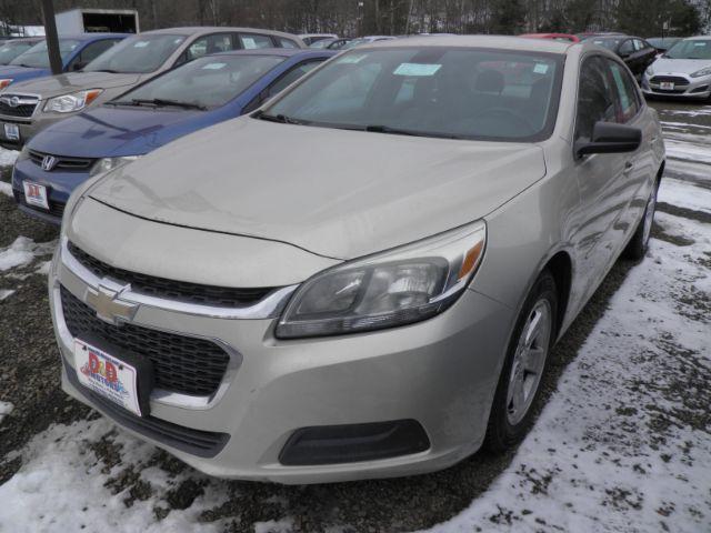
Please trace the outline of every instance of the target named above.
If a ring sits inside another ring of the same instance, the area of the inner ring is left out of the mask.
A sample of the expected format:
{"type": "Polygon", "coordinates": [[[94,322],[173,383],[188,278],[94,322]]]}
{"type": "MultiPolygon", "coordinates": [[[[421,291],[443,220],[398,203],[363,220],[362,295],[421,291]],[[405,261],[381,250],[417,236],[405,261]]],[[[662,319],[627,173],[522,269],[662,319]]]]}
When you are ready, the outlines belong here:
{"type": "Polygon", "coordinates": [[[202,472],[294,484],[410,475],[447,467],[473,453],[483,440],[512,311],[478,292],[467,290],[444,313],[413,325],[293,341],[273,336],[274,319],[216,318],[144,300],[131,323],[211,339],[236,354],[214,398],[191,401],[160,391],[151,395],[157,421],[187,432],[228,435],[213,456],[186,452],[122,422],[71,379],[73,340],[60,285],[86,302],[96,280],[80,270],[78,275],[67,248],[60,250],[49,290],[64,363],[62,388],[202,472]],[[284,444],[300,429],[401,420],[421,424],[429,449],[336,464],[280,461],[284,444]]]}

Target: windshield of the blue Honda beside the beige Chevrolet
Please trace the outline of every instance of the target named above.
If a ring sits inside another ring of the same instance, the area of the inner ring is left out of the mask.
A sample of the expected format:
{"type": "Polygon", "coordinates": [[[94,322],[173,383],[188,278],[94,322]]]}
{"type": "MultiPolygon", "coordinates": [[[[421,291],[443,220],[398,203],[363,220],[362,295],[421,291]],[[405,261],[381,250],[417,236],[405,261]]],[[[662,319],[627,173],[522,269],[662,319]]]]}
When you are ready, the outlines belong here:
{"type": "Polygon", "coordinates": [[[121,95],[117,101],[162,101],[217,108],[237,98],[284,60],[280,56],[211,56],[196,59],[121,95]]]}

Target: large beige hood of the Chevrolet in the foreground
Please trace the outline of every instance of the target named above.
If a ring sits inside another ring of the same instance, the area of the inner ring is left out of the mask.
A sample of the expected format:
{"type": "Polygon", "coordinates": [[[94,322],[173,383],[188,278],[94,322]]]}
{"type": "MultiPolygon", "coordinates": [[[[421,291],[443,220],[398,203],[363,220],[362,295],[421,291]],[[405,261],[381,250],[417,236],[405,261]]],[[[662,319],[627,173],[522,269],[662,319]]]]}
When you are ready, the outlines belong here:
{"type": "Polygon", "coordinates": [[[477,220],[545,174],[533,144],[230,120],[100,180],[126,213],[352,259],[477,220]]]}

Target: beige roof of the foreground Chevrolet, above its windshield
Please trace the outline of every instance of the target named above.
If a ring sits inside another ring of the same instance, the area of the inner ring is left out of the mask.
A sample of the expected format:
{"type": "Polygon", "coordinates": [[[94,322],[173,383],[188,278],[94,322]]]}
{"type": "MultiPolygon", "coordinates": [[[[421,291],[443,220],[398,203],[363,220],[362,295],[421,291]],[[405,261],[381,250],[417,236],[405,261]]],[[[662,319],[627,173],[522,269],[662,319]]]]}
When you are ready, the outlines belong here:
{"type": "Polygon", "coordinates": [[[565,53],[565,51],[574,44],[574,42],[560,42],[551,39],[528,39],[524,37],[508,36],[429,36],[413,37],[410,39],[389,39],[385,41],[375,41],[369,44],[363,44],[358,49],[363,50],[369,48],[399,47],[467,47],[565,53]]]}

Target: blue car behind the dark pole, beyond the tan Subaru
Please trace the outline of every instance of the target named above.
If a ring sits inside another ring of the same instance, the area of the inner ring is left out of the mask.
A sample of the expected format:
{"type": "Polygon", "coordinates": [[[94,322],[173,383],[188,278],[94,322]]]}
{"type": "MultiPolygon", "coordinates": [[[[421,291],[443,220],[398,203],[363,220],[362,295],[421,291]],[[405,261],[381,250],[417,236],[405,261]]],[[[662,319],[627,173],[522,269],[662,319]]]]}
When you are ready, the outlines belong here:
{"type": "MultiPolygon", "coordinates": [[[[59,53],[62,59],[62,72],[80,70],[89,61],[99,57],[127,36],[122,33],[80,33],[59,38],[59,53]]],[[[47,41],[41,39],[37,44],[17,56],[9,64],[0,67],[0,89],[18,86],[22,82],[52,76],[47,53],[47,41]]],[[[0,114],[3,107],[0,105],[0,114]]],[[[22,108],[17,117],[27,110],[22,108]]],[[[1,135],[0,131],[0,135],[1,135]]]]}

